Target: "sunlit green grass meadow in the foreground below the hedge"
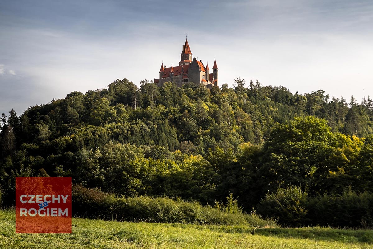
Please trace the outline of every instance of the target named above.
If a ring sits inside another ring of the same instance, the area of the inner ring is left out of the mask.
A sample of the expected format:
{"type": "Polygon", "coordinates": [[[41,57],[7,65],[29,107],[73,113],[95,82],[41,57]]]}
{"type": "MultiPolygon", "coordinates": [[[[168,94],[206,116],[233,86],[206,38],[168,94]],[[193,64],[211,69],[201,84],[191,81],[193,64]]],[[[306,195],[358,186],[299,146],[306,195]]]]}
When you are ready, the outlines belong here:
{"type": "Polygon", "coordinates": [[[16,234],[0,211],[0,248],[373,248],[372,230],[254,228],[73,218],[72,234],[16,234]]]}

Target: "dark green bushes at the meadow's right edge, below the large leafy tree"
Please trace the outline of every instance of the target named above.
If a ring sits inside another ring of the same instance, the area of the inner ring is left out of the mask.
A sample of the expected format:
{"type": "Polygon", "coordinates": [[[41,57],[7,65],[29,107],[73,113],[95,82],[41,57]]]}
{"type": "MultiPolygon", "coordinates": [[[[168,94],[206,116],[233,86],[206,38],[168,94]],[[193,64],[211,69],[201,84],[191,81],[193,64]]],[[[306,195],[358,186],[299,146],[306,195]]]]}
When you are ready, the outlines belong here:
{"type": "Polygon", "coordinates": [[[290,186],[267,194],[258,205],[263,217],[275,218],[287,226],[373,227],[373,194],[352,190],[337,195],[310,197],[290,186]]]}

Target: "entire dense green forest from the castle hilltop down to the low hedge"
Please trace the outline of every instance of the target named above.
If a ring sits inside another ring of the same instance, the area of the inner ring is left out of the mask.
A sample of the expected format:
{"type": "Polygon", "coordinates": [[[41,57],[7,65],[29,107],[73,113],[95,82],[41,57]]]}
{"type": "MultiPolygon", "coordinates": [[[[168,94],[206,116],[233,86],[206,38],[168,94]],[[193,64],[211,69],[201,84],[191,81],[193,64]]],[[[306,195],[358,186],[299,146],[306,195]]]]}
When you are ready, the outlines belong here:
{"type": "Polygon", "coordinates": [[[15,177],[72,177],[123,197],[207,205],[233,194],[285,225],[371,226],[372,134],[369,96],[116,80],[2,114],[0,200],[15,202],[15,177]]]}

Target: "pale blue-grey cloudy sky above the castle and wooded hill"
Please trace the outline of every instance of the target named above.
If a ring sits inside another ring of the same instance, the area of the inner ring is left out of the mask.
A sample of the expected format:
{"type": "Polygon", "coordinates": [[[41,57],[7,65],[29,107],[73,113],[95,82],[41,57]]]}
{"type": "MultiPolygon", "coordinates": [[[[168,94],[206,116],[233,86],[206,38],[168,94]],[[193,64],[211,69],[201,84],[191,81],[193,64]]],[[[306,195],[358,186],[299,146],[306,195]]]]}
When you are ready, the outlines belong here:
{"type": "Polygon", "coordinates": [[[136,85],[178,65],[185,34],[193,57],[292,93],[373,97],[370,0],[1,0],[0,112],[136,85]]]}

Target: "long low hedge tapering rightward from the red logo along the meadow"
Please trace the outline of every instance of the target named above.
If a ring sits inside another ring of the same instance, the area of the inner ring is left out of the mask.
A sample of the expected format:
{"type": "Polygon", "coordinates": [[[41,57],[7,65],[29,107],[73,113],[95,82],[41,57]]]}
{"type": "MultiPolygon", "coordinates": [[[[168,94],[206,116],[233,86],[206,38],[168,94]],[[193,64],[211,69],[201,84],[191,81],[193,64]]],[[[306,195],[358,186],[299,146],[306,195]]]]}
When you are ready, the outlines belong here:
{"type": "Polygon", "coordinates": [[[73,214],[78,217],[117,221],[275,226],[273,220],[263,220],[256,214],[231,214],[199,203],[175,201],[167,197],[119,198],[81,185],[73,185],[72,197],[73,214]]]}

